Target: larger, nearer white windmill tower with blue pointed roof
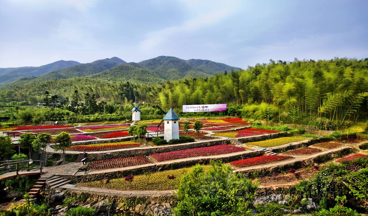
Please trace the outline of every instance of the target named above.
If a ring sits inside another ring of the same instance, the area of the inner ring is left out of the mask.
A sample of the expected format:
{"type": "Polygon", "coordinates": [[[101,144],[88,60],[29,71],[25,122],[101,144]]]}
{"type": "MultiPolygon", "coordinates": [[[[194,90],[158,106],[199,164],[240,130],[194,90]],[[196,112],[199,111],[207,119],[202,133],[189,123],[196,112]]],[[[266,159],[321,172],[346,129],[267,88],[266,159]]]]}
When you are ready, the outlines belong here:
{"type": "Polygon", "coordinates": [[[179,138],[179,116],[176,115],[173,109],[170,109],[169,112],[163,117],[164,121],[164,140],[169,141],[172,139],[179,138]]]}

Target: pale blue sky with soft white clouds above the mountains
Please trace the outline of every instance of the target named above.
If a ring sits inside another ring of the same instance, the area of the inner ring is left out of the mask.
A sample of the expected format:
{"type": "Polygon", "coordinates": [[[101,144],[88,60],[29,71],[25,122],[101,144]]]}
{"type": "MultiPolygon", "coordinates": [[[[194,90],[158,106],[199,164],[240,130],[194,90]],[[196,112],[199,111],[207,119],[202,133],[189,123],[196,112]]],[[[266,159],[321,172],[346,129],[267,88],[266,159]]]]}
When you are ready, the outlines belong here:
{"type": "Polygon", "coordinates": [[[0,0],[0,68],[160,55],[247,68],[368,57],[367,0],[0,0]]]}

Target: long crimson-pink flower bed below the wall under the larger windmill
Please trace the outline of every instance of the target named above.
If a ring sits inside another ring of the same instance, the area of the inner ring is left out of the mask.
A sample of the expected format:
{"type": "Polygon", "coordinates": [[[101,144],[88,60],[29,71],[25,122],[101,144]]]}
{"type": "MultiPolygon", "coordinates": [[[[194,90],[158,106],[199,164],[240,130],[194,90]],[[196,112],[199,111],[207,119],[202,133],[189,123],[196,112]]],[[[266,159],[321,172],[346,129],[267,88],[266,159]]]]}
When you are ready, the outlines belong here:
{"type": "Polygon", "coordinates": [[[151,156],[157,161],[167,161],[179,158],[191,158],[196,156],[221,155],[244,150],[244,148],[236,147],[234,145],[215,145],[210,147],[191,148],[187,150],[152,154],[151,156]]]}

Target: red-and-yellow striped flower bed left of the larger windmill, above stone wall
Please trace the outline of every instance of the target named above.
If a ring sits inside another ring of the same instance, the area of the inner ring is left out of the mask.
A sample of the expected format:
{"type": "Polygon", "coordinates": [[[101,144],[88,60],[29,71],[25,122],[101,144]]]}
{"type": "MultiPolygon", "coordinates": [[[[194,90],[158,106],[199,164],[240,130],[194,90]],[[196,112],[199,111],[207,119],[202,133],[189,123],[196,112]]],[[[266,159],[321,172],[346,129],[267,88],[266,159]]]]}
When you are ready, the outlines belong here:
{"type": "Polygon", "coordinates": [[[74,145],[68,150],[70,151],[108,151],[115,150],[121,148],[134,148],[139,147],[138,143],[134,143],[132,141],[118,142],[118,143],[100,143],[100,144],[91,144],[91,145],[74,145]]]}

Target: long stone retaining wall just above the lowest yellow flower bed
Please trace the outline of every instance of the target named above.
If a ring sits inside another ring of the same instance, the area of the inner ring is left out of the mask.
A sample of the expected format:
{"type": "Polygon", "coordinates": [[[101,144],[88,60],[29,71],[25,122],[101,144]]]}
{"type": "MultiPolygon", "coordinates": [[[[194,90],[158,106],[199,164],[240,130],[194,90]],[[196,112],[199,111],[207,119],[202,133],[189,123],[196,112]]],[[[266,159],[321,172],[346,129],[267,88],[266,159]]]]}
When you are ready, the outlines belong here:
{"type": "Polygon", "coordinates": [[[115,172],[109,173],[96,173],[96,174],[88,174],[88,175],[77,175],[77,176],[63,176],[67,177],[72,181],[72,184],[80,183],[80,182],[87,182],[87,181],[96,181],[102,179],[114,179],[121,176],[127,176],[128,174],[139,175],[143,174],[144,172],[158,172],[163,170],[170,170],[170,169],[178,169],[184,168],[188,166],[199,164],[209,164],[211,160],[219,161],[221,160],[224,163],[229,163],[231,161],[237,161],[240,159],[245,158],[253,158],[256,156],[263,155],[263,151],[251,151],[251,152],[244,152],[244,154],[238,154],[228,157],[219,157],[219,158],[201,158],[201,159],[192,159],[188,158],[188,161],[181,161],[176,163],[165,163],[165,164],[152,164],[142,168],[137,169],[130,169],[130,170],[119,170],[115,172]]]}

